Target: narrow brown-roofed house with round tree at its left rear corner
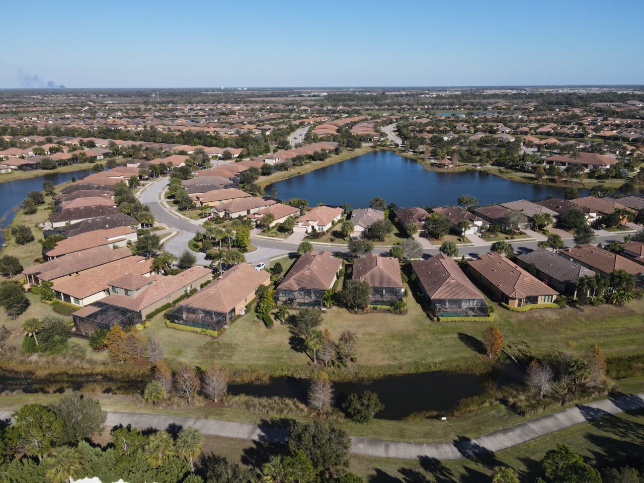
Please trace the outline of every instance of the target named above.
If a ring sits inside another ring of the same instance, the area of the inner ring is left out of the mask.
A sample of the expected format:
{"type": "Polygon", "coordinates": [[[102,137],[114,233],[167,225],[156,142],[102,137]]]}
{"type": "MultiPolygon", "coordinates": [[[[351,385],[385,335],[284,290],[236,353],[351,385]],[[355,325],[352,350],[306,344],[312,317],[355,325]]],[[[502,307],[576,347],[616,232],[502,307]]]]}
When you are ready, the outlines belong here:
{"type": "Polygon", "coordinates": [[[403,298],[403,278],[397,258],[375,253],[355,258],[352,279],[366,281],[370,285],[371,303],[386,305],[403,298]]]}

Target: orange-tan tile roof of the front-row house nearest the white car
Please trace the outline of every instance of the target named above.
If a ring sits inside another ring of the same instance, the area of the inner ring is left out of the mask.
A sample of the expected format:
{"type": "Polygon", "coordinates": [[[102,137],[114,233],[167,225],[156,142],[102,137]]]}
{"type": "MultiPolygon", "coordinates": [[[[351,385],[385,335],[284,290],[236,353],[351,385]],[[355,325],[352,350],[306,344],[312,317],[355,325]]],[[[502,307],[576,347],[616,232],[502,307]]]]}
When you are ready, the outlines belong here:
{"type": "Polygon", "coordinates": [[[260,285],[270,284],[270,274],[266,270],[255,270],[242,263],[227,270],[204,289],[185,299],[181,304],[187,307],[204,308],[214,312],[230,312],[239,305],[245,296],[260,285]]]}

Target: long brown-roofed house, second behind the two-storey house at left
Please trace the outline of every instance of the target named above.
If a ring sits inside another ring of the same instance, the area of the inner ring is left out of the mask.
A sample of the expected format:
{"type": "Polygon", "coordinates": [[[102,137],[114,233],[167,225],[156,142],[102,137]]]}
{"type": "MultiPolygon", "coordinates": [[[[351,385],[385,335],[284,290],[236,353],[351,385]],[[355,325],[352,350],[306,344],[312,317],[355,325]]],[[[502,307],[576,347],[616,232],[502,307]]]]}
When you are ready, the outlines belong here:
{"type": "Polygon", "coordinates": [[[121,260],[131,256],[128,248],[96,247],[80,252],[70,253],[39,265],[33,265],[23,270],[27,283],[40,285],[41,281],[56,282],[59,279],[74,277],[87,270],[96,270],[110,261],[121,260]]]}

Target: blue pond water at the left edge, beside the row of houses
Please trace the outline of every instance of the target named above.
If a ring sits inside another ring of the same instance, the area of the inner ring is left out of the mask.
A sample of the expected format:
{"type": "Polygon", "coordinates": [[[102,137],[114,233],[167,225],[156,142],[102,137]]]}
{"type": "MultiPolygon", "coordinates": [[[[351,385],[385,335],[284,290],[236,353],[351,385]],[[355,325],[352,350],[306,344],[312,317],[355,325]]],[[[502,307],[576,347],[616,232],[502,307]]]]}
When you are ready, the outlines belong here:
{"type": "Polygon", "coordinates": [[[48,173],[37,178],[0,183],[0,243],[3,242],[2,231],[14,219],[14,208],[23,202],[27,193],[33,189],[39,191],[43,189],[43,181],[51,181],[57,185],[71,181],[71,178],[79,179],[87,175],[91,175],[91,168],[68,171],[67,173],[48,173]]]}

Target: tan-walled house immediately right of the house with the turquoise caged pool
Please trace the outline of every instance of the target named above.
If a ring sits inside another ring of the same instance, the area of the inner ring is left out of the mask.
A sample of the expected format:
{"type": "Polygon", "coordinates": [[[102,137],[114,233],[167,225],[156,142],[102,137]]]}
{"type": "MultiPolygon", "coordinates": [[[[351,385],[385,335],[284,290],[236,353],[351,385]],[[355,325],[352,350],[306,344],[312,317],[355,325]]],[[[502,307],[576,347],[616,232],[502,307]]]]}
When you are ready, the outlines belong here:
{"type": "Polygon", "coordinates": [[[542,281],[536,279],[506,257],[489,252],[479,255],[478,260],[468,261],[469,273],[491,295],[510,307],[554,302],[558,296],[542,281]]]}

